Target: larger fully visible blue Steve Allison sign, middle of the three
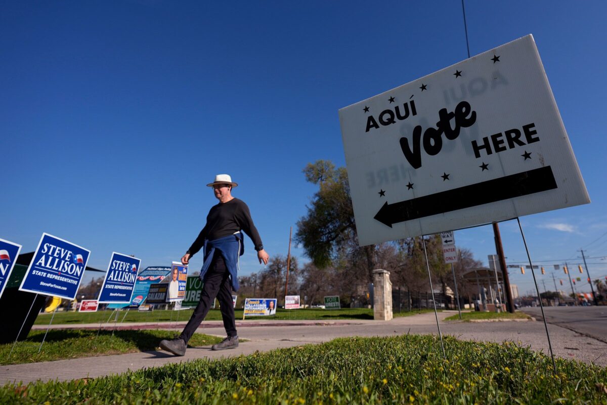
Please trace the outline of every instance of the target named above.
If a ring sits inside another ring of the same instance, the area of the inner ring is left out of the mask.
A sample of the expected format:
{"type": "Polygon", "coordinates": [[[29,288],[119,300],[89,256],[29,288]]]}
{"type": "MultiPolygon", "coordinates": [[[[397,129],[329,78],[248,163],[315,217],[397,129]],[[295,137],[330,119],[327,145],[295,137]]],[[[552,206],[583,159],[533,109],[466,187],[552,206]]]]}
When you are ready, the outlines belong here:
{"type": "Polygon", "coordinates": [[[76,298],[90,250],[43,233],[19,290],[76,298]]]}

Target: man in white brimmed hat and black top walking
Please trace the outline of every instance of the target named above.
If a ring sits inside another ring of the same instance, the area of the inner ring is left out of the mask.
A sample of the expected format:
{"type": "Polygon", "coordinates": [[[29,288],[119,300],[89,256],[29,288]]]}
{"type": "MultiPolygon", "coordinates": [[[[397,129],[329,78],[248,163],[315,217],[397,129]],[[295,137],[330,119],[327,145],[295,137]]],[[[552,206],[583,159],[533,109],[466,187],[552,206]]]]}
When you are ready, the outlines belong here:
{"type": "Polygon", "coordinates": [[[205,284],[200,294],[200,302],[178,338],[160,341],[161,349],[176,356],[185,355],[189,339],[205,319],[215,297],[221,305],[223,327],[228,337],[214,344],[211,349],[224,350],[238,347],[232,290],[237,291],[239,287],[239,256],[245,251],[242,231],[253,240],[259,263],[268,264],[270,259],[263,250],[262,240],[251,219],[249,207],[242,200],[232,197],[232,188],[236,187],[237,183],[232,182],[232,178],[227,174],[218,174],[215,176],[215,181],[207,186],[213,188],[219,204],[212,206],[206,216],[205,227],[186,254],[181,257],[181,263],[188,264],[189,259],[204,248],[205,262],[200,270],[200,279],[205,284]]]}

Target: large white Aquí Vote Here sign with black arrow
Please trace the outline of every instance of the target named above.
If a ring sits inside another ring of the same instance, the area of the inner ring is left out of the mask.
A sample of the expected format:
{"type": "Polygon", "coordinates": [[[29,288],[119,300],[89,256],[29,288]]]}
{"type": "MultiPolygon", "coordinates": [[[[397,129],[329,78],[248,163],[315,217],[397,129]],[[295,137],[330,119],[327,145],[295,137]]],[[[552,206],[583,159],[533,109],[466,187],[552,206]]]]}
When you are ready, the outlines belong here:
{"type": "Polygon", "coordinates": [[[531,35],[339,119],[361,245],[590,202],[531,35]]]}

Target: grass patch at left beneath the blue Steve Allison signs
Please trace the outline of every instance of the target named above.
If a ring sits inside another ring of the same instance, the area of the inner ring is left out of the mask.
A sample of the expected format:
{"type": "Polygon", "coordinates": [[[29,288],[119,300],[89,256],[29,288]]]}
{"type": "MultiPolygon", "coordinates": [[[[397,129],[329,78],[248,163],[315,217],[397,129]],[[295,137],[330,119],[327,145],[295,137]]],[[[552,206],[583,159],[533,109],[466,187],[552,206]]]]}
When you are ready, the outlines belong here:
{"type": "MultiPolygon", "coordinates": [[[[88,356],[116,355],[121,353],[144,352],[158,347],[161,339],[172,339],[174,333],[166,330],[97,330],[59,329],[49,330],[42,350],[40,342],[46,330],[33,330],[27,339],[17,342],[12,355],[13,344],[0,345],[0,364],[22,364],[38,361],[63,360],[88,356]]],[[[190,346],[211,345],[222,341],[215,336],[194,333],[188,342],[190,346]]]]}

